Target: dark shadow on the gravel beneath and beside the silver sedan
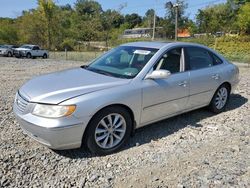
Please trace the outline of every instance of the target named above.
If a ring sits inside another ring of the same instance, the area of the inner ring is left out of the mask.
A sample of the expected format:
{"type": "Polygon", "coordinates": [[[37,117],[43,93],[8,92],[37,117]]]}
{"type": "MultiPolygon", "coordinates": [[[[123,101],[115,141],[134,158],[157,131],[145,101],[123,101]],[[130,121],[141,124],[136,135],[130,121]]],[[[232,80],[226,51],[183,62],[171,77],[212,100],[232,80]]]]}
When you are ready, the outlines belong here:
{"type": "MultiPolygon", "coordinates": [[[[237,109],[248,102],[248,99],[239,94],[232,94],[230,101],[225,111],[231,111],[237,109]]],[[[157,123],[152,123],[145,127],[136,130],[133,137],[130,138],[129,143],[123,147],[122,150],[135,147],[136,145],[143,145],[150,143],[153,140],[158,140],[168,135],[174,134],[185,127],[198,128],[202,127],[199,122],[202,119],[215,116],[216,114],[210,112],[206,108],[201,108],[191,112],[187,112],[172,118],[168,118],[157,123]]],[[[54,151],[58,155],[62,155],[71,159],[79,158],[91,158],[95,155],[89,153],[86,149],[72,149],[72,150],[61,150],[54,151]]]]}

